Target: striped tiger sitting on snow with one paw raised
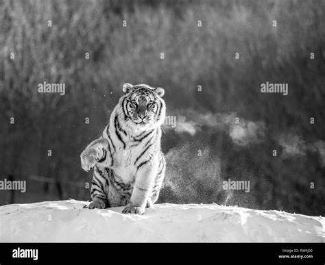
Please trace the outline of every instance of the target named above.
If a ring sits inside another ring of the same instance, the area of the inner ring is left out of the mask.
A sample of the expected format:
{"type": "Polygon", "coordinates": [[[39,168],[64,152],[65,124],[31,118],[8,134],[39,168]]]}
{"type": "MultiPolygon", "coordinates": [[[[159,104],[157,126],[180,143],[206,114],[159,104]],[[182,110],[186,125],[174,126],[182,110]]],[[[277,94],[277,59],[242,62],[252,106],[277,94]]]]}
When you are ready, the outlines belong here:
{"type": "Polygon", "coordinates": [[[82,168],[93,169],[89,209],[124,206],[123,214],[144,214],[158,200],[165,178],[161,126],[165,90],[146,84],[123,84],[101,137],[80,155],[82,168]]]}

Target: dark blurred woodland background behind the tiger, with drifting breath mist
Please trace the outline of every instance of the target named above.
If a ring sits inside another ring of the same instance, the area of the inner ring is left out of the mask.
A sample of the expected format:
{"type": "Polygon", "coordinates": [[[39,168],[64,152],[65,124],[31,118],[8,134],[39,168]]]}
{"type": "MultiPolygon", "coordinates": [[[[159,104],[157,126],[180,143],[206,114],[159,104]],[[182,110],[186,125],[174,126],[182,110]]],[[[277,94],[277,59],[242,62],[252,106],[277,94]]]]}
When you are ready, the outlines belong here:
{"type": "Polygon", "coordinates": [[[165,88],[176,116],[159,203],[324,216],[324,19],[325,1],[1,0],[0,177],[27,191],[1,190],[0,205],[90,199],[80,153],[130,82],[165,88]],[[38,93],[44,81],[66,94],[38,93]],[[289,94],[261,93],[266,81],[289,94]],[[229,178],[250,192],[223,190],[229,178]]]}

